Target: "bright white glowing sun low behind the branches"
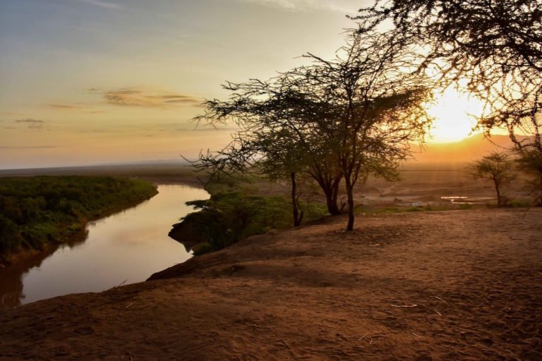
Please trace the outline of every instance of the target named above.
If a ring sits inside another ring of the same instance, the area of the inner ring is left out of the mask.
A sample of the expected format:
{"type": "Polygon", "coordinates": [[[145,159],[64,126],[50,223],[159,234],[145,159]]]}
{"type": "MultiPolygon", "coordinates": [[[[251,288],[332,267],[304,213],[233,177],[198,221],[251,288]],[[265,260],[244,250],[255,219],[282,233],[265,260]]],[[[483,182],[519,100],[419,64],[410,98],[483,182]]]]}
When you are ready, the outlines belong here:
{"type": "Polygon", "coordinates": [[[460,94],[453,87],[447,88],[442,94],[436,94],[435,98],[436,102],[427,109],[428,114],[435,118],[428,142],[458,142],[479,133],[479,130],[473,131],[476,116],[480,116],[483,110],[478,99],[460,94]]]}

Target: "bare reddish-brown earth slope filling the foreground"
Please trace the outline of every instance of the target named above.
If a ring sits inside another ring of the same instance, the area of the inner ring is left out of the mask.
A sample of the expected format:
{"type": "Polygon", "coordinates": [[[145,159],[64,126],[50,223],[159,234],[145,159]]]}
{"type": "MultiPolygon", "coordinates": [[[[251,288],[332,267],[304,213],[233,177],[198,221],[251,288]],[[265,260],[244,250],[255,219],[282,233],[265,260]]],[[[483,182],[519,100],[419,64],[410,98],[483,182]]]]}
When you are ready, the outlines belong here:
{"type": "Polygon", "coordinates": [[[542,360],[542,210],[344,218],[0,312],[0,360],[542,360]]]}

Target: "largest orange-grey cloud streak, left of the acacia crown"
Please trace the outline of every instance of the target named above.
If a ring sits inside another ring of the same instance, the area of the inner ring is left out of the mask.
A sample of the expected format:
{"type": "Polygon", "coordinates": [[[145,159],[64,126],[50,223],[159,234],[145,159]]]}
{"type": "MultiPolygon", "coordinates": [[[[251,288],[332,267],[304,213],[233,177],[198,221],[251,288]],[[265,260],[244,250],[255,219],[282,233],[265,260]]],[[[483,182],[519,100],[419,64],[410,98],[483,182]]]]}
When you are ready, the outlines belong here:
{"type": "Polygon", "coordinates": [[[203,99],[191,95],[176,94],[164,90],[123,88],[119,90],[88,90],[102,94],[107,104],[119,106],[143,106],[147,108],[170,108],[173,106],[197,106],[203,99]]]}

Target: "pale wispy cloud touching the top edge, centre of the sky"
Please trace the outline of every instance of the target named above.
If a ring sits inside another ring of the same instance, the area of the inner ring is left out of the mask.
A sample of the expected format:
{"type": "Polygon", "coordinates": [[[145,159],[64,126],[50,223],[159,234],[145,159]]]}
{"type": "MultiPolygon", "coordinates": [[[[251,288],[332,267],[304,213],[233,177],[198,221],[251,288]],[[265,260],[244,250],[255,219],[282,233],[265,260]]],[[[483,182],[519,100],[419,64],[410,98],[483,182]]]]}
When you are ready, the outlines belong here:
{"type": "MultiPolygon", "coordinates": [[[[289,11],[330,10],[352,13],[360,8],[359,0],[237,0],[246,3],[275,6],[289,11]]],[[[368,2],[368,1],[366,1],[368,2]]]]}

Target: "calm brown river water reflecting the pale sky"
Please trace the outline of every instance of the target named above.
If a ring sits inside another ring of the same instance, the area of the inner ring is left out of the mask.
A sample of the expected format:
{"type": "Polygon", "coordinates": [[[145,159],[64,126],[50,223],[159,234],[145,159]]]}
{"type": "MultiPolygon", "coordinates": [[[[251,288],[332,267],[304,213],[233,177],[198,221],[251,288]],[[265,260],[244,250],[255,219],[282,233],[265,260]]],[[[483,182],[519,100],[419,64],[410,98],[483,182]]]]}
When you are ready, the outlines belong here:
{"type": "Polygon", "coordinates": [[[145,281],[186,261],[191,255],[167,233],[192,211],[184,202],[209,195],[187,185],[159,185],[158,192],[136,207],[89,223],[70,245],[0,269],[0,308],[145,281]]]}

